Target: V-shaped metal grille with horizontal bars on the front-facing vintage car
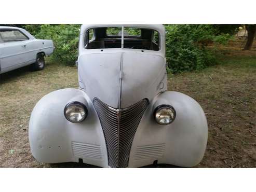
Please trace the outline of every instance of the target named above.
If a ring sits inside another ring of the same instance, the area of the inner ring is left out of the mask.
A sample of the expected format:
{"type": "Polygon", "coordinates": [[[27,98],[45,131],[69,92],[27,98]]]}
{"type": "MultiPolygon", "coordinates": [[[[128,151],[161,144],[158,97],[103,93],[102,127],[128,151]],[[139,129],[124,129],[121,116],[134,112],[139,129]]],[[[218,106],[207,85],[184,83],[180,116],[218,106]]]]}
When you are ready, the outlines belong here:
{"type": "Polygon", "coordinates": [[[128,167],[133,137],[148,104],[148,100],[143,99],[130,107],[115,109],[97,98],[93,100],[104,132],[110,167],[128,167]]]}

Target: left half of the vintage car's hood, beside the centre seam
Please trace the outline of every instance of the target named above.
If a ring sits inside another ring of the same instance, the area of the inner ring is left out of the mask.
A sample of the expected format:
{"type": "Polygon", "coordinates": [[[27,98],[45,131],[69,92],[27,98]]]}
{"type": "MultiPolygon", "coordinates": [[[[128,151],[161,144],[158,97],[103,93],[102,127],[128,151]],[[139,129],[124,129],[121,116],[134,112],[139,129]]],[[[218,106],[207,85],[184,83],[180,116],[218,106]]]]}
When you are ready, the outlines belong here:
{"type": "Polygon", "coordinates": [[[122,53],[83,54],[78,60],[78,73],[91,101],[98,97],[117,107],[119,99],[119,73],[122,53]],[[83,63],[83,64],[80,64],[83,63]],[[97,71],[98,73],[91,73],[97,71]],[[104,73],[101,73],[104,71],[104,73]]]}

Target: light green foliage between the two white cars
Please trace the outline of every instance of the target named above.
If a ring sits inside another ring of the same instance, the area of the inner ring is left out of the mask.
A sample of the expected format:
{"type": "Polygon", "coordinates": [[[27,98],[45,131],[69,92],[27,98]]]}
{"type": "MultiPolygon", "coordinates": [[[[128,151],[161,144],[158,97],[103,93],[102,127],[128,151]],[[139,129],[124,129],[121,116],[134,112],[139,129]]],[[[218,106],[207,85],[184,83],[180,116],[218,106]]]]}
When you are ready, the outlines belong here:
{"type": "Polygon", "coordinates": [[[77,24],[26,26],[36,38],[52,39],[56,48],[52,59],[65,65],[74,65],[77,60],[79,28],[77,24]]]}

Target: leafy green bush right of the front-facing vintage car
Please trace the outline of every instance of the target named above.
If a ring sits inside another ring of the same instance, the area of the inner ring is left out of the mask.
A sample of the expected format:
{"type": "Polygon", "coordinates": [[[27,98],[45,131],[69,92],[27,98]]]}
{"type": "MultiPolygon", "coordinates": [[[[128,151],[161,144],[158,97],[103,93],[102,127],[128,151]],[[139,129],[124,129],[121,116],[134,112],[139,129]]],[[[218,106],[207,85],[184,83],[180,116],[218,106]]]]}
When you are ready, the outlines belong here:
{"type": "Polygon", "coordinates": [[[211,51],[206,49],[210,43],[225,44],[229,34],[216,35],[218,30],[207,24],[166,25],[166,57],[169,71],[201,70],[215,64],[211,51]]]}

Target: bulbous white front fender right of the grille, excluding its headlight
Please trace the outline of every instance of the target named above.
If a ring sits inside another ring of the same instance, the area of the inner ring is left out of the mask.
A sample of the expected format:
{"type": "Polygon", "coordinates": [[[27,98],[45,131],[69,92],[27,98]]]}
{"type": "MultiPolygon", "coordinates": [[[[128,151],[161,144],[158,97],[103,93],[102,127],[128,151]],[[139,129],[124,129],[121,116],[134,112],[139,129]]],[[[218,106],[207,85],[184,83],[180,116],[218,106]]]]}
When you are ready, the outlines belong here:
{"type": "Polygon", "coordinates": [[[147,108],[134,136],[129,167],[158,163],[193,167],[204,157],[208,126],[201,106],[183,93],[167,91],[157,95],[147,108]],[[173,106],[176,119],[159,125],[153,111],[161,104],[173,106]]]}

